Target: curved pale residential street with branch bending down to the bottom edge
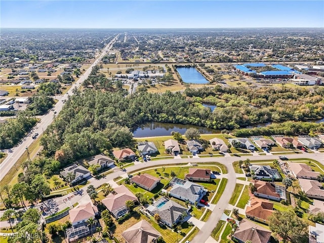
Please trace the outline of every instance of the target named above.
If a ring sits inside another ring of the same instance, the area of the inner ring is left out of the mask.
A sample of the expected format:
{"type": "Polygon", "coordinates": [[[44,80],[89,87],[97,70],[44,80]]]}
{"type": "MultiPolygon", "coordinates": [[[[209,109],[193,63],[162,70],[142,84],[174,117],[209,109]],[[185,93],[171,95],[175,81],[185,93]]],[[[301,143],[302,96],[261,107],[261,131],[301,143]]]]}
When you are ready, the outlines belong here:
{"type": "MultiPolygon", "coordinates": [[[[324,165],[324,156],[322,153],[304,153],[304,154],[289,154],[286,155],[289,159],[294,158],[305,158],[305,159],[315,159],[319,161],[322,165],[324,165]]],[[[266,155],[266,156],[244,156],[244,159],[250,159],[251,163],[253,164],[253,160],[272,160],[272,159],[278,159],[278,155],[266,155]]],[[[134,166],[127,167],[124,170],[121,170],[117,167],[114,167],[113,173],[110,173],[106,175],[105,177],[97,180],[95,178],[90,178],[89,182],[86,186],[82,187],[83,193],[73,195],[72,193],[67,194],[62,197],[54,198],[57,204],[59,205],[59,210],[63,210],[66,207],[69,207],[75,203],[79,203],[80,201],[83,201],[85,198],[88,197],[88,194],[86,193],[87,188],[89,185],[93,185],[96,188],[100,187],[104,183],[109,183],[112,187],[116,187],[117,184],[114,181],[114,178],[120,177],[120,178],[126,178],[128,174],[133,172],[139,172],[151,167],[159,167],[159,166],[172,166],[175,164],[183,163],[183,166],[189,165],[189,163],[213,163],[218,162],[226,166],[227,168],[227,174],[225,175],[228,179],[226,187],[224,192],[230,192],[230,193],[223,193],[220,197],[218,203],[214,206],[212,209],[212,214],[210,215],[208,221],[204,223],[203,227],[197,226],[200,230],[197,233],[197,235],[190,241],[193,243],[200,243],[200,242],[216,242],[214,239],[211,239],[210,235],[215,228],[217,222],[221,219],[223,212],[226,208],[229,206],[229,200],[231,198],[232,192],[235,187],[236,183],[236,177],[238,175],[235,174],[234,169],[232,167],[232,163],[234,161],[239,160],[239,157],[235,156],[226,156],[226,157],[200,157],[200,158],[181,158],[181,159],[160,159],[160,160],[151,160],[144,163],[137,163],[134,166]],[[69,200],[65,200],[66,198],[70,197],[69,200]],[[65,203],[66,201],[66,203],[65,203]]],[[[240,175],[241,176],[241,175],[240,175]]],[[[0,212],[0,216],[2,216],[4,211],[0,212]]],[[[199,220],[194,220],[195,222],[201,222],[199,220]]],[[[8,222],[3,221],[0,223],[0,227],[7,227],[8,222]]]]}

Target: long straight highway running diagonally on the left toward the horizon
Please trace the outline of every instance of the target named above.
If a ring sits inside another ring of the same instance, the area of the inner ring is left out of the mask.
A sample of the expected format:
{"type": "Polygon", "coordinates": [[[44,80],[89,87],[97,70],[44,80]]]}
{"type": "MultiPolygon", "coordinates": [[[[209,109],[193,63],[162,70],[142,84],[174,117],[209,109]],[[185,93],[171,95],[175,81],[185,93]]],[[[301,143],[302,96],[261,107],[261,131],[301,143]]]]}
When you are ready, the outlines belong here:
{"type": "MultiPolygon", "coordinates": [[[[47,127],[53,122],[53,120],[55,118],[54,112],[56,111],[56,114],[58,114],[62,110],[63,105],[64,105],[63,101],[68,99],[69,96],[72,96],[73,95],[72,90],[74,88],[79,88],[81,86],[81,84],[84,82],[84,80],[86,80],[88,78],[89,74],[91,73],[92,68],[100,62],[100,60],[104,57],[104,55],[108,51],[110,51],[113,43],[116,41],[118,36],[119,36],[119,34],[117,34],[112,39],[112,41],[109,42],[109,44],[101,51],[101,54],[98,55],[97,59],[91,64],[91,66],[87,69],[87,71],[79,77],[77,82],[75,82],[71,86],[71,88],[69,89],[69,91],[66,94],[64,94],[62,96],[57,96],[58,102],[54,106],[54,110],[50,111],[46,115],[42,116],[41,122],[36,124],[36,127],[35,127],[33,133],[38,133],[38,136],[43,134],[43,132],[47,129],[47,127]]],[[[10,169],[16,164],[16,161],[25,152],[26,147],[29,147],[33,141],[34,141],[34,139],[32,139],[31,136],[27,136],[26,139],[19,146],[12,148],[13,152],[8,153],[8,156],[0,165],[0,171],[1,171],[0,172],[0,181],[5,177],[5,175],[7,175],[7,173],[10,171],[10,169]]]]}

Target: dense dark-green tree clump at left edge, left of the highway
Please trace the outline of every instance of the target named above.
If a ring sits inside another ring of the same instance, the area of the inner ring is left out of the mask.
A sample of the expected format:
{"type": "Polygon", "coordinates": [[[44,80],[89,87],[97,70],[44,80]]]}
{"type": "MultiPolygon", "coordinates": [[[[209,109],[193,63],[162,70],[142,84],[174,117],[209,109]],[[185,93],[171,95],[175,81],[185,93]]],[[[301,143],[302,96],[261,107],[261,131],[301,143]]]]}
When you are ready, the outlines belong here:
{"type": "Polygon", "coordinates": [[[26,112],[18,112],[17,117],[0,124],[1,149],[12,148],[35,126],[37,119],[26,112]]]}

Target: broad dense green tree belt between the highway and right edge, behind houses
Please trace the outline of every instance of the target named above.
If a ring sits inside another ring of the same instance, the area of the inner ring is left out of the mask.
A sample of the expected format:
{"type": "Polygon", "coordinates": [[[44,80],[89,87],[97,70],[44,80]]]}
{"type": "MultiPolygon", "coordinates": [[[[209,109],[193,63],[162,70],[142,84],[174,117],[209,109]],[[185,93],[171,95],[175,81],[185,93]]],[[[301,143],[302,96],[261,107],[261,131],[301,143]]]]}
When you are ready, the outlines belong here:
{"type": "MultiPolygon", "coordinates": [[[[323,92],[322,88],[310,92],[306,89],[216,87],[187,89],[185,95],[143,91],[125,97],[121,91],[86,90],[66,102],[41,143],[47,155],[55,155],[63,162],[130,145],[130,130],[148,121],[233,129],[267,121],[298,120],[303,116],[315,119],[324,116],[323,92]],[[204,101],[219,107],[212,112],[201,105],[204,101]]],[[[307,128],[311,125],[307,123],[303,125],[304,130],[292,131],[308,133],[318,126],[307,128]]]]}

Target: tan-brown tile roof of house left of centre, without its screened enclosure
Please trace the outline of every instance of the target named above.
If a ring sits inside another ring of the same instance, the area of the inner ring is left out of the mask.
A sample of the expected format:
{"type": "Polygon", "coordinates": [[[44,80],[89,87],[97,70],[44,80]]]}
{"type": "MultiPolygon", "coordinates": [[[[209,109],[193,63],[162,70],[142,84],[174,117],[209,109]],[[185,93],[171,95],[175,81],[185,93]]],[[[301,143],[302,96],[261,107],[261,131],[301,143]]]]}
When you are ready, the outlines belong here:
{"type": "Polygon", "coordinates": [[[125,206],[127,200],[137,200],[137,197],[124,185],[114,188],[114,191],[117,194],[110,193],[105,199],[102,199],[102,203],[110,212],[125,206]]]}

